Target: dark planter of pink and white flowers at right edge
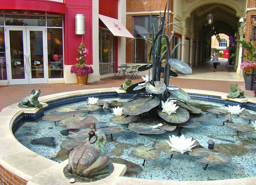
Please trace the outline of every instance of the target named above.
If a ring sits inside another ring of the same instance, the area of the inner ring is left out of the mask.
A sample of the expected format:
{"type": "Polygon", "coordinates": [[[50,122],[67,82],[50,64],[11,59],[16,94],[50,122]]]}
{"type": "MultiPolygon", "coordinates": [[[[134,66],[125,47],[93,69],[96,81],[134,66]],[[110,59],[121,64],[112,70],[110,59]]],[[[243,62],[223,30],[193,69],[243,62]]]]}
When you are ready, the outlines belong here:
{"type": "Polygon", "coordinates": [[[243,70],[243,76],[245,81],[245,89],[246,90],[253,90],[252,76],[256,75],[256,61],[244,61],[240,65],[240,68],[243,70]]]}

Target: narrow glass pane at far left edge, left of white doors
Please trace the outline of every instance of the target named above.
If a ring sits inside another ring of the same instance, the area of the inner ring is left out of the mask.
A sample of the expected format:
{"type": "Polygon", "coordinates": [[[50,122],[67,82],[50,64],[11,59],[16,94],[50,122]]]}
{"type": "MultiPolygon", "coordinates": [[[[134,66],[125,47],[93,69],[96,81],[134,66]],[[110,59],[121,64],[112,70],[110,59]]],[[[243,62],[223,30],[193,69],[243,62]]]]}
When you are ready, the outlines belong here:
{"type": "Polygon", "coordinates": [[[0,80],[7,80],[4,27],[0,27],[0,80]]]}

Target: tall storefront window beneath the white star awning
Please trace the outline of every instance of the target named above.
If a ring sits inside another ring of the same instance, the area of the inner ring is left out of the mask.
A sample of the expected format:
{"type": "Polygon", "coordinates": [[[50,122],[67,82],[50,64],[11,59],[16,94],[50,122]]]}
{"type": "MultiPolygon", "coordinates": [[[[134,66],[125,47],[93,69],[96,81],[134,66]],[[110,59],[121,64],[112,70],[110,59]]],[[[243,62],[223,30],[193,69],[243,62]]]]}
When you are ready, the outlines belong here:
{"type": "Polygon", "coordinates": [[[114,65],[114,40],[115,37],[109,30],[99,30],[100,74],[111,73],[111,65],[114,65]]]}

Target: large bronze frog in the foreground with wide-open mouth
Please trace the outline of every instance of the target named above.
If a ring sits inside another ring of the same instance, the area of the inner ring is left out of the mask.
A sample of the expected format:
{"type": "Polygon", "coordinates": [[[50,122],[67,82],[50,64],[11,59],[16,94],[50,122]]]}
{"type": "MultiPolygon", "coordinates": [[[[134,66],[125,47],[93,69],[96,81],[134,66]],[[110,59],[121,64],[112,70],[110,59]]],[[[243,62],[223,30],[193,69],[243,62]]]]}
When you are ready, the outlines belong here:
{"type": "Polygon", "coordinates": [[[105,167],[109,163],[104,147],[106,135],[101,130],[88,133],[85,145],[72,150],[68,157],[68,172],[80,177],[94,177],[108,173],[105,167]]]}

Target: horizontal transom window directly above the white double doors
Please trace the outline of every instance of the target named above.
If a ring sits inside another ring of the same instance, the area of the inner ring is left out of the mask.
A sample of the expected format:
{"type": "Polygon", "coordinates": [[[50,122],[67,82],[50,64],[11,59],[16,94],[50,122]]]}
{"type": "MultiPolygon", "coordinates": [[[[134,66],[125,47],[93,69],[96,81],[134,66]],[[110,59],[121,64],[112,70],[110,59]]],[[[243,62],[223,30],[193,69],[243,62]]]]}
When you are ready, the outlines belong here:
{"type": "Polygon", "coordinates": [[[45,16],[6,15],[5,24],[14,26],[45,26],[45,16]]]}

